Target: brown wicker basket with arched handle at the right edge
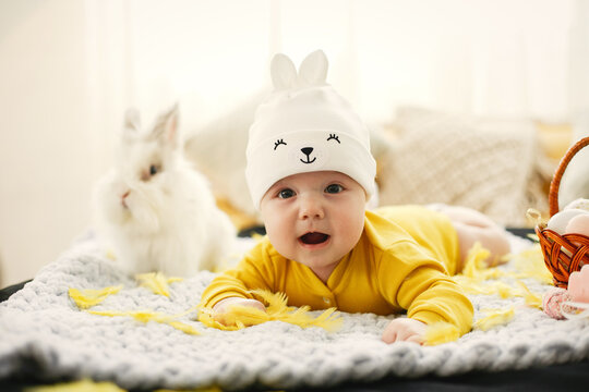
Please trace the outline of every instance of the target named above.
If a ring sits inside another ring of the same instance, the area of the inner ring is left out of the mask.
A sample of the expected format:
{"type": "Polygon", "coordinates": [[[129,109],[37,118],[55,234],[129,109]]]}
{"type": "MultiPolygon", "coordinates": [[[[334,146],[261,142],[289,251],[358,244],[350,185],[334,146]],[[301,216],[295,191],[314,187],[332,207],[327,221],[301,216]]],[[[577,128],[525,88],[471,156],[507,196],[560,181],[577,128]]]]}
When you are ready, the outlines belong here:
{"type": "MultiPolygon", "coordinates": [[[[589,145],[589,137],[580,139],[570,147],[561,160],[550,183],[549,207],[551,217],[558,212],[558,187],[564,171],[573,157],[587,145],[589,145]]],[[[540,240],[544,262],[554,278],[554,285],[566,289],[569,274],[579,271],[582,266],[589,264],[589,237],[581,234],[560,235],[546,229],[545,225],[537,225],[536,234],[540,240]]]]}

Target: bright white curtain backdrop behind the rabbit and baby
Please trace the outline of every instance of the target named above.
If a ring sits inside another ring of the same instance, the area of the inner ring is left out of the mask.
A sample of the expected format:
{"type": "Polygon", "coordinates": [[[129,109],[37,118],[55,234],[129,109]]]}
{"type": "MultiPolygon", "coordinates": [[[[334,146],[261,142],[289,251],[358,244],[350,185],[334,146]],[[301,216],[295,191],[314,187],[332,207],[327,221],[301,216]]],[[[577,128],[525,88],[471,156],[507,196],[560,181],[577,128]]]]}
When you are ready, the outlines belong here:
{"type": "Polygon", "coordinates": [[[582,0],[0,0],[0,284],[91,224],[128,107],[196,132],[322,48],[368,121],[419,105],[573,122],[589,107],[582,0]]]}

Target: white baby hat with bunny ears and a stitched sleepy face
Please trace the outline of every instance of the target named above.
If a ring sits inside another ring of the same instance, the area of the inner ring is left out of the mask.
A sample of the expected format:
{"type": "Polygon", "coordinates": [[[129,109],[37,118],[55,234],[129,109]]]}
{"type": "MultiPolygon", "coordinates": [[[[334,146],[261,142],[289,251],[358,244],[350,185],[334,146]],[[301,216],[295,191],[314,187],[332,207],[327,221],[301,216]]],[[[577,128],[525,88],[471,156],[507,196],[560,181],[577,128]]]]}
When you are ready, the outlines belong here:
{"type": "Polygon", "coordinates": [[[272,60],[275,90],[257,108],[250,127],[245,177],[256,208],[265,193],[286,176],[334,170],[375,192],[376,162],[365,124],[325,83],[327,58],[309,54],[299,73],[285,54],[272,60]]]}

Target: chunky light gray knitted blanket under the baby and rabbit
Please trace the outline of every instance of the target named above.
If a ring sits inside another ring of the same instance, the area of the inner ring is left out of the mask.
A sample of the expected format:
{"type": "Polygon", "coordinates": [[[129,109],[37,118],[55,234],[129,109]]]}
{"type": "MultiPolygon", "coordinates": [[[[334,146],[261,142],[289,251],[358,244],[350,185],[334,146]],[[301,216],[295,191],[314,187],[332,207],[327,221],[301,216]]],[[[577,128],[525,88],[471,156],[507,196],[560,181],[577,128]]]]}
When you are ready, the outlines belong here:
{"type": "MultiPolygon", "coordinates": [[[[502,268],[512,269],[512,262],[502,268]]],[[[178,315],[197,304],[214,277],[202,272],[171,283],[170,297],[156,295],[122,274],[94,241],[77,243],[0,305],[0,379],[91,377],[128,389],[302,388],[387,375],[416,378],[522,369],[589,357],[587,319],[554,320],[526,306],[521,297],[469,295],[476,320],[486,308],[512,305],[515,317],[488,331],[473,330],[456,342],[419,346],[383,343],[381,333],[390,317],[372,314],[342,314],[337,332],[280,321],[220,331],[194,321],[196,313],[191,311],[180,321],[202,332],[192,335],[161,322],[92,315],[80,310],[68,295],[70,287],[122,285],[92,309],[178,315]]],[[[537,293],[550,287],[532,279],[525,283],[537,293]]]]}

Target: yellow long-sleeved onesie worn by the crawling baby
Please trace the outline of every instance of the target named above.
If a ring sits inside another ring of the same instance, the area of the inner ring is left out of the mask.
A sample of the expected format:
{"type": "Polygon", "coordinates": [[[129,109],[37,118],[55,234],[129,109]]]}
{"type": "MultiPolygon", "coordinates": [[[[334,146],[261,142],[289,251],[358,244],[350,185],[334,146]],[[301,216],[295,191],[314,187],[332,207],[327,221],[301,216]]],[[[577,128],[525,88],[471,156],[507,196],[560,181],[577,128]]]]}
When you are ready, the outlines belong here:
{"type": "Polygon", "coordinates": [[[231,270],[215,278],[201,306],[262,289],[288,296],[288,305],[347,313],[407,316],[431,324],[446,321],[467,333],[473,309],[449,277],[460,257],[452,222],[420,206],[366,211],[358,244],[339,261],[326,283],[297,261],[280,256],[265,237],[231,270]]]}

